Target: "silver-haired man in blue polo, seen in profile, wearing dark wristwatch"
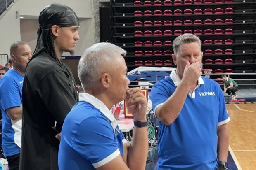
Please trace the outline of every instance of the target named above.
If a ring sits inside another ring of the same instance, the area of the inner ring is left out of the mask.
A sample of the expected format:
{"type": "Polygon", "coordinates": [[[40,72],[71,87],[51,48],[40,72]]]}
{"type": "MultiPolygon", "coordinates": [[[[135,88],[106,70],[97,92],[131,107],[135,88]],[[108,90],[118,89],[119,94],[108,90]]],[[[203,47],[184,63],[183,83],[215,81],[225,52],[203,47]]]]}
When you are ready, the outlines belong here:
{"type": "Polygon", "coordinates": [[[145,170],[148,138],[147,99],[140,88],[128,88],[126,51],[110,43],[85,50],[78,65],[84,89],[66,116],[59,146],[59,170],[145,170]],[[126,100],[134,116],[129,144],[109,111],[126,100]]]}

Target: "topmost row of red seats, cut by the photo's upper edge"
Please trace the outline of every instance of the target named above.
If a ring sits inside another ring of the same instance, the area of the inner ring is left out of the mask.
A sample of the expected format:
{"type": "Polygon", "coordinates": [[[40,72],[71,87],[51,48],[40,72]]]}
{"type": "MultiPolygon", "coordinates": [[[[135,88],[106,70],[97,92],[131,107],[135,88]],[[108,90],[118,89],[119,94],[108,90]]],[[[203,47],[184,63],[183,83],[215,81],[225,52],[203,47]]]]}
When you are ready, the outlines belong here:
{"type": "MultiPolygon", "coordinates": [[[[232,3],[233,0],[214,0],[214,3],[232,3]]],[[[182,4],[202,4],[202,3],[205,3],[205,4],[210,4],[210,3],[213,3],[213,0],[174,0],[173,2],[171,0],[165,0],[164,2],[162,2],[161,0],[155,0],[154,2],[151,2],[149,0],[146,0],[145,2],[142,2],[142,1],[135,1],[133,2],[133,5],[135,6],[140,6],[140,5],[182,5],[182,4]]]]}

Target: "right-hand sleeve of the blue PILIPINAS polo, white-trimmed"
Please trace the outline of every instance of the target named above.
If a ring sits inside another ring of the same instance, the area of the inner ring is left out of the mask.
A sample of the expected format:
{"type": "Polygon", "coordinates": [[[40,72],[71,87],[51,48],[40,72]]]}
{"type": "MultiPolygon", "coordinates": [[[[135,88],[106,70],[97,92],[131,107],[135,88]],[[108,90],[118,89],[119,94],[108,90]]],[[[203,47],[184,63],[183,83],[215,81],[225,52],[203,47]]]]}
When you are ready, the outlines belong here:
{"type": "Polygon", "coordinates": [[[218,94],[219,94],[219,118],[218,126],[228,123],[230,121],[228,111],[225,105],[224,95],[219,85],[217,85],[218,94]]]}

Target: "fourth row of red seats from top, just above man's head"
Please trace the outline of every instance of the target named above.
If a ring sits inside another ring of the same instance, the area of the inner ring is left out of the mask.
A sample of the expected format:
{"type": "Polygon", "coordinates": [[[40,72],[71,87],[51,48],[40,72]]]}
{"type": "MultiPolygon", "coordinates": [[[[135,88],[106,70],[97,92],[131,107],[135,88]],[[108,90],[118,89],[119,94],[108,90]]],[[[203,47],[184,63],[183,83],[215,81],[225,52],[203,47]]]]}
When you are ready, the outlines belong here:
{"type": "Polygon", "coordinates": [[[161,30],[155,30],[154,33],[152,33],[152,31],[150,30],[146,30],[144,31],[144,33],[142,33],[142,31],[135,31],[134,32],[134,36],[152,36],[152,35],[182,35],[182,34],[194,34],[194,35],[202,35],[202,34],[206,34],[206,35],[210,35],[210,34],[232,34],[233,30],[231,28],[227,28],[224,31],[222,29],[216,29],[216,30],[211,30],[211,29],[206,29],[206,30],[175,30],[175,31],[171,31],[171,30],[165,30],[164,33],[161,30]]]}

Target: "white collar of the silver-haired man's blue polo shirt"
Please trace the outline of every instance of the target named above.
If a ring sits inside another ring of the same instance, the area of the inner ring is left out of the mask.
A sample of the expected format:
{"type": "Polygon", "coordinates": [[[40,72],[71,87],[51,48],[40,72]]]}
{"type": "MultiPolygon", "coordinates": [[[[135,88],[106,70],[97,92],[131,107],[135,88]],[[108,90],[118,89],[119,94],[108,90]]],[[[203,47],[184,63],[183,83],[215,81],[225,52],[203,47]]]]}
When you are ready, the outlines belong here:
{"type": "Polygon", "coordinates": [[[100,110],[104,116],[106,116],[111,121],[111,126],[113,129],[116,129],[116,126],[118,124],[118,121],[114,118],[114,115],[111,114],[110,110],[107,108],[107,106],[100,101],[99,99],[95,98],[93,95],[90,95],[88,93],[79,93],[79,101],[84,101],[92,104],[94,107],[100,110]]]}

